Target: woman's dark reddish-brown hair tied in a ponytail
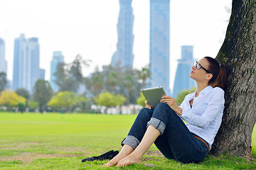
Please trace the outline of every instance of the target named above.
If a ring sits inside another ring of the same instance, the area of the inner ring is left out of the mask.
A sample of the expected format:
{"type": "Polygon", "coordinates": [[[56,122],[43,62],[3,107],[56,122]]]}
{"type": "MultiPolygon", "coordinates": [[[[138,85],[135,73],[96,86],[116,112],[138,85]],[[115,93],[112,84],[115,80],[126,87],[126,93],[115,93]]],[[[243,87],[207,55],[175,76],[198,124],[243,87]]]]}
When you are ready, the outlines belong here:
{"type": "Polygon", "coordinates": [[[203,57],[209,62],[208,70],[213,77],[210,79],[209,84],[213,87],[220,87],[225,90],[228,86],[228,70],[223,64],[219,64],[217,60],[212,57],[203,57]]]}

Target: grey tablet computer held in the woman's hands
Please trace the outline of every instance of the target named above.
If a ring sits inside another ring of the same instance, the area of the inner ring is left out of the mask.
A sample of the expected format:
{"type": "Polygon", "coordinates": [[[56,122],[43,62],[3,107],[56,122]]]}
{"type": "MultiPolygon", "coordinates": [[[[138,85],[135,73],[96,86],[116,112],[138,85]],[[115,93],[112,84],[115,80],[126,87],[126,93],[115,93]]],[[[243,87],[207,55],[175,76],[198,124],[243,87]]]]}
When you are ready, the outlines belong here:
{"type": "Polygon", "coordinates": [[[166,95],[162,86],[142,89],[142,94],[153,109],[160,103],[161,97],[166,95]]]}

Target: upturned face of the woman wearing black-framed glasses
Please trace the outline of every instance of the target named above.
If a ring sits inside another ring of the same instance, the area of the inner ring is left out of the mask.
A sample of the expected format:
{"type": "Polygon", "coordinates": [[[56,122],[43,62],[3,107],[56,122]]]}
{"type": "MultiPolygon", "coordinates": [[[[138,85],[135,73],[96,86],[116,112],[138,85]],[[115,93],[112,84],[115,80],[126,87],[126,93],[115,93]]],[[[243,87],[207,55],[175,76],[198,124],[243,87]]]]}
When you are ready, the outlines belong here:
{"type": "MultiPolygon", "coordinates": [[[[201,64],[201,67],[208,69],[209,62],[205,58],[202,58],[201,60],[198,61],[198,64],[201,64]]],[[[193,65],[191,74],[189,77],[196,81],[209,81],[209,73],[206,72],[203,68],[201,69],[196,69],[196,65],[193,65]]],[[[211,78],[211,77],[210,77],[211,78]]]]}

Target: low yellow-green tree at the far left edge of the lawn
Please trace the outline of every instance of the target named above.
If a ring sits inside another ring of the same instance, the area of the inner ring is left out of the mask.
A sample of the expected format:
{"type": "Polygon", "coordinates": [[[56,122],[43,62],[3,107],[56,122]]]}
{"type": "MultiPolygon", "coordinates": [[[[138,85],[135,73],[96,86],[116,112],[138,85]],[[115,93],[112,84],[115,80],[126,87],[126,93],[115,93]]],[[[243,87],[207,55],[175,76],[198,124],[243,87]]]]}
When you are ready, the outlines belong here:
{"type": "Polygon", "coordinates": [[[1,91],[0,106],[6,106],[8,110],[11,110],[11,107],[18,106],[18,103],[23,103],[23,105],[25,105],[26,98],[18,96],[14,91],[1,91]]]}

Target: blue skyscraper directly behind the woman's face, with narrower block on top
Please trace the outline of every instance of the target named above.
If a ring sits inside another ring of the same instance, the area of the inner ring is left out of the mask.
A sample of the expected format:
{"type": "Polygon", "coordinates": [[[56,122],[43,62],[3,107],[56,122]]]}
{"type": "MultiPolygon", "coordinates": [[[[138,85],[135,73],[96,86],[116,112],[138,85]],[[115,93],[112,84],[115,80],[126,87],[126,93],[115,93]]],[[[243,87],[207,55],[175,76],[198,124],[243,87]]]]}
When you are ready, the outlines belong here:
{"type": "Polygon", "coordinates": [[[174,81],[174,98],[180,91],[185,89],[189,90],[193,86],[196,86],[196,81],[189,77],[194,61],[195,59],[193,58],[193,46],[181,46],[181,59],[178,60],[178,67],[174,81]]]}

